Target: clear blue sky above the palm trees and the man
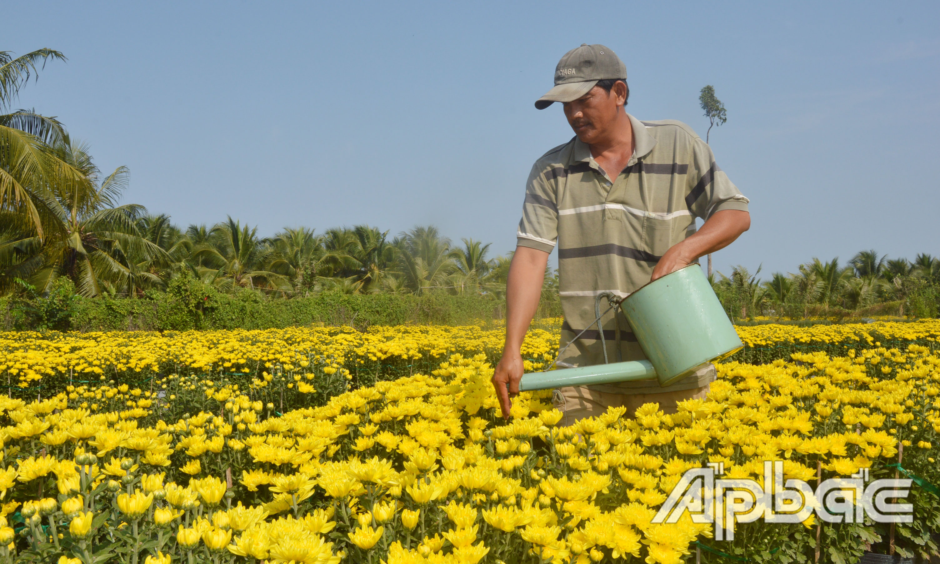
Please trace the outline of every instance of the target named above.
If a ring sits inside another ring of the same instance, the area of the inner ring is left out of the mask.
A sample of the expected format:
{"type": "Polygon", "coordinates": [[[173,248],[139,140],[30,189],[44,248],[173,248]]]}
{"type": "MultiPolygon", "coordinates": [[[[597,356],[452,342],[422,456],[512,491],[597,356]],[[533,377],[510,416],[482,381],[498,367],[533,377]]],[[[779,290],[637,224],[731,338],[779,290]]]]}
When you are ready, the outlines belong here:
{"type": "Polygon", "coordinates": [[[3,20],[0,50],[69,57],[18,105],[129,166],[125,202],[180,227],[433,224],[505,253],[529,168],[572,137],[533,102],[561,55],[603,43],[637,118],[704,136],[705,85],[728,108],[712,146],[753,223],[718,271],[940,254],[935,1],[8,0],[3,20]]]}

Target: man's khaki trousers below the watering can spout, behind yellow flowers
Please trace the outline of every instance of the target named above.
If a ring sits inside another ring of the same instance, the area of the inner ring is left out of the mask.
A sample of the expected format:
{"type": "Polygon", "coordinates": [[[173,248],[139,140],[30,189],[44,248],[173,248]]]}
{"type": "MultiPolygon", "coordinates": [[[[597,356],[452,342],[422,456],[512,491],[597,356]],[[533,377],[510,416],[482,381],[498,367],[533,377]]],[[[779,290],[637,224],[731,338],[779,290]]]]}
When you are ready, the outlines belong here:
{"type": "Polygon", "coordinates": [[[625,416],[633,418],[637,408],[644,403],[659,403],[659,409],[665,414],[674,414],[677,411],[676,402],[683,399],[705,399],[709,386],[679,390],[675,392],[661,392],[658,394],[608,394],[598,392],[587,386],[571,386],[557,388],[552,395],[552,403],[564,416],[558,425],[568,427],[579,419],[596,417],[607,411],[608,407],[626,407],[625,416]]]}

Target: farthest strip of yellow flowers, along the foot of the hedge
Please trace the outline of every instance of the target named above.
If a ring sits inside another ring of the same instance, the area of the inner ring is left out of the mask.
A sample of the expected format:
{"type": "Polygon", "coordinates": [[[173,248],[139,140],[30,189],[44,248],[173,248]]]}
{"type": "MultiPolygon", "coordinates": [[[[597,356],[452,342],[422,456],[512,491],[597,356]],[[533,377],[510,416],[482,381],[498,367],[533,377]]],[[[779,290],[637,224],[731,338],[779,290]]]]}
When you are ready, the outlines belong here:
{"type": "MultiPolygon", "coordinates": [[[[545,320],[545,329],[529,331],[523,346],[525,368],[545,368],[555,357],[560,324],[545,320]]],[[[790,360],[792,352],[844,354],[850,348],[908,344],[932,347],[940,321],[874,322],[842,325],[758,325],[738,327],[745,350],[736,360],[790,360]],[[875,345],[875,343],[879,343],[875,345]]],[[[452,353],[485,354],[494,364],[503,348],[504,330],[476,326],[294,327],[264,331],[187,331],[112,333],[2,333],[0,384],[35,388],[93,379],[117,378],[127,384],[150,384],[158,374],[226,376],[243,383],[277,367],[331,374],[339,371],[353,385],[429,373],[452,353]],[[41,382],[40,382],[41,381],[41,382]]],[[[33,394],[35,395],[35,394],[33,394]]]]}

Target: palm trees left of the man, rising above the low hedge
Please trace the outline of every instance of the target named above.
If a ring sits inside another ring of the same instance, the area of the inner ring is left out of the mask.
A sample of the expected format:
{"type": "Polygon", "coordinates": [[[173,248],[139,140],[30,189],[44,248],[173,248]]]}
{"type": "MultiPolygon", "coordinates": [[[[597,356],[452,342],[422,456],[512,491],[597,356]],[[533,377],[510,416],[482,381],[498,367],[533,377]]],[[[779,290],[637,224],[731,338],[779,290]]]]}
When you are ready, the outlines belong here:
{"type": "Polygon", "coordinates": [[[455,246],[435,227],[394,238],[369,226],[297,227],[263,238],[231,217],[183,230],[168,215],[119,205],[126,167],[105,174],[57,119],[11,109],[52,60],[65,56],[0,52],[0,295],[47,296],[68,279],[80,296],[139,298],[185,275],[219,291],[286,298],[328,290],[501,296],[509,257],[490,258],[490,244],[472,239],[455,246]]]}

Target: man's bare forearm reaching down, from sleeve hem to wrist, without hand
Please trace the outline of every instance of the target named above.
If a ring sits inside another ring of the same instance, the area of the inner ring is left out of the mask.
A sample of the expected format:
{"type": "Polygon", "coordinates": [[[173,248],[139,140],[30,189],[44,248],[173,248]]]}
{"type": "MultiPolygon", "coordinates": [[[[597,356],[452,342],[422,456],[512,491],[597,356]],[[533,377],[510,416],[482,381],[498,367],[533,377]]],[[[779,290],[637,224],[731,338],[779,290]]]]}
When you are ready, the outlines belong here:
{"type": "Polygon", "coordinates": [[[509,264],[506,283],[506,347],[519,352],[525,332],[535,316],[545,280],[548,253],[529,247],[516,247],[509,264]]]}

